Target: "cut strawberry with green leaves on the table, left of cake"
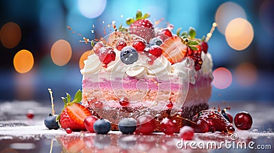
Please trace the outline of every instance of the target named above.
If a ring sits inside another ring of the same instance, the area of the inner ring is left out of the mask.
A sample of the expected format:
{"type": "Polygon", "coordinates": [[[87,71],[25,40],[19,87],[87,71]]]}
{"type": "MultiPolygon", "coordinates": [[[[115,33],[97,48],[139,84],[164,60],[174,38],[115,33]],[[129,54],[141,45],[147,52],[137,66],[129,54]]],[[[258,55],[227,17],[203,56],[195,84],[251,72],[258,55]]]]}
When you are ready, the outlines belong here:
{"type": "Polygon", "coordinates": [[[66,93],[66,98],[62,97],[64,101],[64,109],[56,118],[60,126],[64,129],[71,128],[71,130],[86,130],[84,126],[84,120],[91,115],[90,111],[86,109],[79,102],[82,100],[82,92],[78,92],[74,96],[74,100],[71,102],[71,95],[66,93]]]}

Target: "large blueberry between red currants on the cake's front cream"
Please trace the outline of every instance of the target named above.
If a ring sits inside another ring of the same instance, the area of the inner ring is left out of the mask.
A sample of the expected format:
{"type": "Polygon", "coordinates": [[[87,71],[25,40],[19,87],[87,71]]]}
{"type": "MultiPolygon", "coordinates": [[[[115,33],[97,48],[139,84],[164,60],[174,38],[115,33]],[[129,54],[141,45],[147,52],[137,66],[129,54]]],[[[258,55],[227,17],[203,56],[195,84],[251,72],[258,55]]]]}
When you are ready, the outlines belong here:
{"type": "Polygon", "coordinates": [[[125,46],[121,51],[121,61],[124,64],[133,64],[138,60],[138,53],[132,46],[125,46]]]}

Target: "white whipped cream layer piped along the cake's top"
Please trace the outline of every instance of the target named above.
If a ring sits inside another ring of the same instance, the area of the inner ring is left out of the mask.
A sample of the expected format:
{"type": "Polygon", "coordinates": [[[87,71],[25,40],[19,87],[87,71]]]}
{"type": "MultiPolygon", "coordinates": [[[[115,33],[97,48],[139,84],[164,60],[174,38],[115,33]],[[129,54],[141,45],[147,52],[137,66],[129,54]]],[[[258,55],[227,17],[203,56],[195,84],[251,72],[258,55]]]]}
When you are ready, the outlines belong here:
{"type": "Polygon", "coordinates": [[[160,79],[169,79],[176,76],[181,79],[189,79],[191,84],[195,84],[198,74],[207,74],[212,78],[212,56],[210,53],[201,53],[201,59],[203,64],[201,70],[196,71],[194,69],[194,61],[190,58],[186,58],[183,61],[171,65],[171,63],[161,55],[153,61],[153,64],[147,64],[147,55],[139,54],[138,60],[134,64],[124,64],[120,59],[121,51],[116,50],[116,58],[108,64],[107,68],[101,66],[99,57],[95,54],[88,56],[88,59],[84,61],[84,69],[81,73],[98,75],[99,72],[106,72],[114,75],[115,77],[121,77],[126,74],[129,77],[160,77],[160,79]]]}

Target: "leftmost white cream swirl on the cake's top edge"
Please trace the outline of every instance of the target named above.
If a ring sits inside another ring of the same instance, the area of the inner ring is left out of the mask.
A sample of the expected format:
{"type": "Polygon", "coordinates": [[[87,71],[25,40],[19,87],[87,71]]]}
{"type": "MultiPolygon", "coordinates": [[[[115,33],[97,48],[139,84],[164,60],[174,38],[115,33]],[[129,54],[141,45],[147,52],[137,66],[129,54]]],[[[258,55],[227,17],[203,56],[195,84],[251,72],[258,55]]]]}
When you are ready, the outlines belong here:
{"type": "Polygon", "coordinates": [[[89,55],[84,61],[84,68],[80,70],[82,74],[98,74],[101,68],[101,61],[95,54],[89,55]]]}

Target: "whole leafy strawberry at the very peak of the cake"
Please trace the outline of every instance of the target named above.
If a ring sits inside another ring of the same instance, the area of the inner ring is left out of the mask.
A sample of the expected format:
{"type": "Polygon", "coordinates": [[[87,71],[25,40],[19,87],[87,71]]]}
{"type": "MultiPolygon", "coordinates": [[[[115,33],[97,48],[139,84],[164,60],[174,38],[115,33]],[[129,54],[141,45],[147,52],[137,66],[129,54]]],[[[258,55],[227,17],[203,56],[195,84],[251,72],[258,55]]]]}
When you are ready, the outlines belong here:
{"type": "Polygon", "coordinates": [[[126,21],[127,25],[130,25],[129,31],[136,36],[144,38],[147,42],[155,36],[153,24],[147,19],[149,16],[149,14],[142,16],[142,12],[137,11],[135,20],[134,18],[128,18],[126,21]]]}

